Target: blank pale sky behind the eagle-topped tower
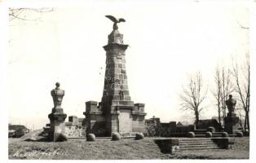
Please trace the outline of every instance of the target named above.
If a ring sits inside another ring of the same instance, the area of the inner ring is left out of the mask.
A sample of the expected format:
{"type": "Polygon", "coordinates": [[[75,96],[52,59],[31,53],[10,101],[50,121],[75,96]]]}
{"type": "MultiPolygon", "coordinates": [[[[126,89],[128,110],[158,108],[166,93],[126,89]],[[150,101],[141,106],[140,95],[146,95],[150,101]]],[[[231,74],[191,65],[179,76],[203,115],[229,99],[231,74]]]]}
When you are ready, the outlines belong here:
{"type": "MultiPolygon", "coordinates": [[[[249,51],[249,30],[241,29],[249,27],[247,6],[235,1],[105,1],[55,7],[42,14],[25,12],[27,19],[36,20],[9,24],[9,122],[45,126],[56,81],[65,90],[62,107],[68,116],[84,117],[85,102],[100,101],[106,59],[102,46],[113,29],[104,15],[126,19],[118,26],[130,45],[126,51],[130,97],[145,104],[146,118],[189,120],[179,106],[188,75],[200,71],[211,88],[217,64],[229,66],[232,56],[241,60],[249,51]]],[[[217,116],[210,90],[204,105],[208,108],[202,118],[217,116]]]]}

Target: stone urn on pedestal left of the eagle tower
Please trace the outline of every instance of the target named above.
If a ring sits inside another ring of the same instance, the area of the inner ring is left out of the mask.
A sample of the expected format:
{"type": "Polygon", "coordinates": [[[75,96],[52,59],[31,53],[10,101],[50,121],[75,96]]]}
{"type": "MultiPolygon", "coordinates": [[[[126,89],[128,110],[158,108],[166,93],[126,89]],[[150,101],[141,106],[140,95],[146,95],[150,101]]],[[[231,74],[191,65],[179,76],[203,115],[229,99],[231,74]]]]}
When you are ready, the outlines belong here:
{"type": "Polygon", "coordinates": [[[54,103],[54,108],[51,114],[48,115],[50,119],[49,139],[51,141],[63,141],[65,138],[65,119],[67,114],[61,108],[61,102],[65,94],[64,90],[60,90],[60,83],[56,82],[55,89],[51,90],[51,96],[54,103]]]}

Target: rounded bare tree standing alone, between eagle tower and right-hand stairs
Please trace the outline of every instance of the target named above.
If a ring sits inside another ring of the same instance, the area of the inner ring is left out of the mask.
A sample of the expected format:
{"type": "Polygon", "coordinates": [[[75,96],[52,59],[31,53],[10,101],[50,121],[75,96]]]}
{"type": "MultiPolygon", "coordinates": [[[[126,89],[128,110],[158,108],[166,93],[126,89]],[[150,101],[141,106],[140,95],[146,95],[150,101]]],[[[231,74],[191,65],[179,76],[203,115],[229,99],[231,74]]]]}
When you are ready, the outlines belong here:
{"type": "Polygon", "coordinates": [[[179,95],[182,101],[181,109],[194,112],[196,127],[198,127],[201,111],[204,109],[201,106],[207,94],[207,89],[204,90],[204,87],[201,73],[199,72],[194,77],[189,78],[188,86],[183,88],[183,93],[179,95]]]}

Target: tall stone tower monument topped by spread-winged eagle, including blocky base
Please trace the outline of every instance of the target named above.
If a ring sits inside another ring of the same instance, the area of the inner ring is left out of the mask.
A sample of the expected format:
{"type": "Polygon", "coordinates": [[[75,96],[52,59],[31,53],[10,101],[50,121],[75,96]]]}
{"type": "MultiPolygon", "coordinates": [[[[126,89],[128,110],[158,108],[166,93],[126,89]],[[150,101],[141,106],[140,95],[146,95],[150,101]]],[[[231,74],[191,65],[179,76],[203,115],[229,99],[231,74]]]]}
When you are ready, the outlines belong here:
{"type": "Polygon", "coordinates": [[[126,49],[123,34],[118,31],[117,23],[126,22],[106,15],[113,21],[113,31],[108,35],[106,51],[106,69],[104,91],[101,102],[86,102],[86,133],[96,136],[110,136],[118,132],[122,136],[130,136],[144,132],[144,104],[134,104],[130,99],[126,74],[126,49]]]}

